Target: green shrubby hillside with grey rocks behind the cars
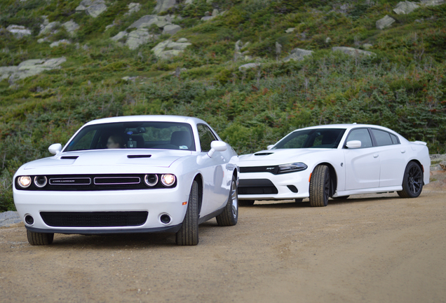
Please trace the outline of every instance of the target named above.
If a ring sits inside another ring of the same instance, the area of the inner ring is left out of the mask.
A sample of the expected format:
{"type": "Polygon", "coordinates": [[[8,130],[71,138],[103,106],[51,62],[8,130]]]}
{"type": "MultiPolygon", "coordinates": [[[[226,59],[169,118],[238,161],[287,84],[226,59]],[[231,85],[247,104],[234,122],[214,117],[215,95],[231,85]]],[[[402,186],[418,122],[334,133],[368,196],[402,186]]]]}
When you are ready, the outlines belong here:
{"type": "Polygon", "coordinates": [[[324,123],[446,149],[444,0],[3,0],[0,210],[86,121],[182,114],[239,153],[324,123]]]}

